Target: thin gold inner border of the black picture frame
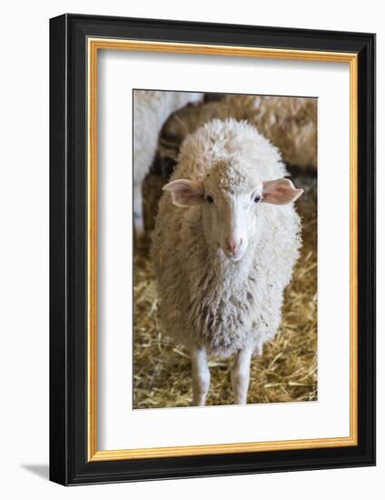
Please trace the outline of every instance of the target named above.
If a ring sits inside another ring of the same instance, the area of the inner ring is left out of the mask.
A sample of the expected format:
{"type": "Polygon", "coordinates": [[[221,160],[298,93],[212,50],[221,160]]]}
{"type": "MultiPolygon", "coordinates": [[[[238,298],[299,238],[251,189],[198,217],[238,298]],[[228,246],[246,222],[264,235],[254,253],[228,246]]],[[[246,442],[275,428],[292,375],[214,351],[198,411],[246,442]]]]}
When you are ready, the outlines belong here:
{"type": "Polygon", "coordinates": [[[355,53],[200,45],[128,39],[87,39],[88,57],[88,461],[218,455],[358,445],[358,55],[355,53]],[[350,435],[286,441],[185,445],[121,450],[97,449],[97,56],[99,50],[225,55],[350,65],[350,435]]]}

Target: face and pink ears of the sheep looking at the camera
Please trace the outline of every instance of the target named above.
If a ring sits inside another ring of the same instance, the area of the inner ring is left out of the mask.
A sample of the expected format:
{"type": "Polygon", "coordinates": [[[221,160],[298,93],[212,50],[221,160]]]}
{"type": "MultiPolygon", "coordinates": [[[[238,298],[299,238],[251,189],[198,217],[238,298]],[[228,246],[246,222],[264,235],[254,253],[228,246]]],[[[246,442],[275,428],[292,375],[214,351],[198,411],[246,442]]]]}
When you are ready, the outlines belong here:
{"type": "Polygon", "coordinates": [[[262,233],[263,203],[285,205],[301,194],[289,179],[281,178],[253,184],[250,179],[229,183],[207,175],[203,181],[177,179],[163,189],[171,192],[173,205],[202,205],[203,232],[207,243],[221,248],[233,262],[245,255],[250,243],[258,244],[262,233]]]}

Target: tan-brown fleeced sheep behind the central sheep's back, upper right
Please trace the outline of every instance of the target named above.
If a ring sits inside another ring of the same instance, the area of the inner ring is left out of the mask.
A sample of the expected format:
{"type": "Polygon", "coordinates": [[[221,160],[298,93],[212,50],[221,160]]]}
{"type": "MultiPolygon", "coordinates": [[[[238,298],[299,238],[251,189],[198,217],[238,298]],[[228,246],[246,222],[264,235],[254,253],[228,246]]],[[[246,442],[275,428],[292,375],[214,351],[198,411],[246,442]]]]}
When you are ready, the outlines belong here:
{"type": "MultiPolygon", "coordinates": [[[[247,120],[277,146],[285,164],[314,172],[317,168],[317,99],[269,95],[225,95],[194,109],[184,109],[164,125],[163,135],[183,138],[213,118],[247,120]]],[[[170,147],[167,150],[170,154],[170,147]]]]}

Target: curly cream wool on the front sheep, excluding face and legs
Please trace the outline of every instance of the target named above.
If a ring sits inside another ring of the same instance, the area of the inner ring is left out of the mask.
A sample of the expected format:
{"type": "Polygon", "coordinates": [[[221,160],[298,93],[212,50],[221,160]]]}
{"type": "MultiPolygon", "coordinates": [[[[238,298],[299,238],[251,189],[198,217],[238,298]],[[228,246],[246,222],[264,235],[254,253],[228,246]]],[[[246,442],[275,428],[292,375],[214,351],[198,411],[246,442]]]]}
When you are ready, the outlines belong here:
{"type": "MultiPolygon", "coordinates": [[[[278,150],[252,125],[214,120],[183,143],[172,179],[202,180],[237,192],[286,175],[278,150]],[[248,185],[248,186],[247,186],[248,185]]],[[[281,322],[283,291],[301,246],[293,205],[259,207],[262,236],[232,262],[207,244],[202,205],[180,208],[165,193],[153,232],[163,332],[176,342],[226,357],[262,345],[281,322]]]]}

